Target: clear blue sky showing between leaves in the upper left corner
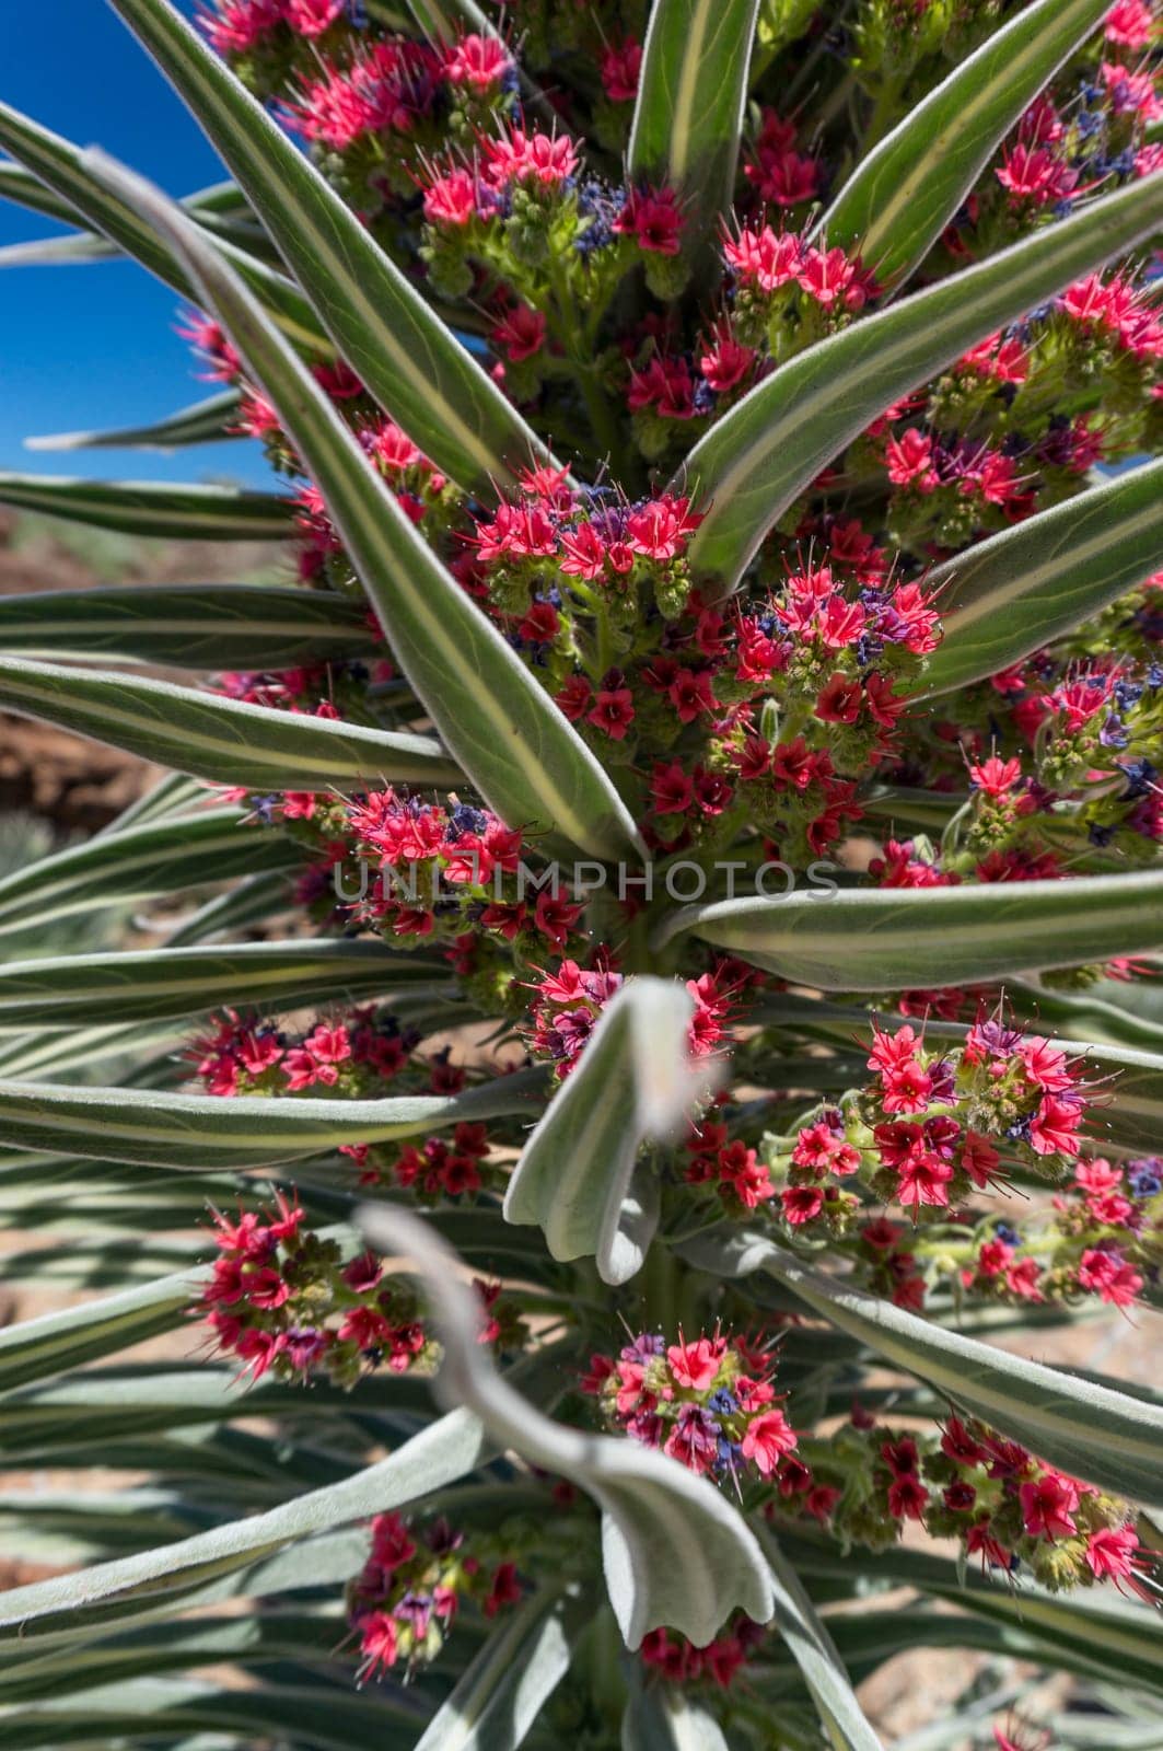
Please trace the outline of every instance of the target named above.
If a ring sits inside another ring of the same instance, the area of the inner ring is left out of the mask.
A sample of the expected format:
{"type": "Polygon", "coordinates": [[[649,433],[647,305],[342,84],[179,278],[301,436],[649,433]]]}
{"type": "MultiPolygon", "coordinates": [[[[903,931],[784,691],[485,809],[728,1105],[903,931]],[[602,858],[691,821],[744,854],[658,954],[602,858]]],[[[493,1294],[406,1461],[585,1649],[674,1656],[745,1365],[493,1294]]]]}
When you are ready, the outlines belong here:
{"type": "MultiPolygon", "coordinates": [[[[193,14],[193,0],[179,0],[193,14]]],[[[0,98],[102,145],[172,194],[222,177],[166,81],[105,0],[0,4],[0,98]]],[[[0,200],[0,245],[63,226],[0,200]]],[[[208,394],[173,333],[179,301],[130,263],[0,270],[0,469],[121,480],[270,480],[250,443],[40,454],[35,432],[144,424],[208,394]]]]}

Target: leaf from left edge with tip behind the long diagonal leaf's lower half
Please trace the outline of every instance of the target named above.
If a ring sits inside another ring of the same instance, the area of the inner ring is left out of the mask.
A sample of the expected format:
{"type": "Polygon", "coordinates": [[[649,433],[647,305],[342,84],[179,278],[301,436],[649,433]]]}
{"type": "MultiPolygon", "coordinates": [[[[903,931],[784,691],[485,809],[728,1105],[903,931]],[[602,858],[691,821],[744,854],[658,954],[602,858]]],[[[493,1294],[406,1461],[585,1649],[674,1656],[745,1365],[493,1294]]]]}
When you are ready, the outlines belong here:
{"type": "Polygon", "coordinates": [[[462,781],[426,735],[271,711],[170,681],[0,657],[0,709],[126,748],[214,784],[352,790],[462,781]]]}

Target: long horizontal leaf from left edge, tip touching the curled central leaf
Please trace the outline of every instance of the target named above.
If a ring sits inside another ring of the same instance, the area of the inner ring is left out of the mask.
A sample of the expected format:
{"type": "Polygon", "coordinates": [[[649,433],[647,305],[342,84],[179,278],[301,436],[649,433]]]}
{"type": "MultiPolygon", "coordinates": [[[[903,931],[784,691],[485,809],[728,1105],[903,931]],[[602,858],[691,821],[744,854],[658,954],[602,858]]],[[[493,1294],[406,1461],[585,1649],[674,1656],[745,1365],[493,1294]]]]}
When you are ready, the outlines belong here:
{"type": "Polygon", "coordinates": [[[497,1077],[464,1094],[352,1101],[0,1082],[0,1145],[203,1173],[266,1168],[343,1143],[384,1143],[504,1114],[534,1115],[541,1086],[534,1072],[497,1077]]]}

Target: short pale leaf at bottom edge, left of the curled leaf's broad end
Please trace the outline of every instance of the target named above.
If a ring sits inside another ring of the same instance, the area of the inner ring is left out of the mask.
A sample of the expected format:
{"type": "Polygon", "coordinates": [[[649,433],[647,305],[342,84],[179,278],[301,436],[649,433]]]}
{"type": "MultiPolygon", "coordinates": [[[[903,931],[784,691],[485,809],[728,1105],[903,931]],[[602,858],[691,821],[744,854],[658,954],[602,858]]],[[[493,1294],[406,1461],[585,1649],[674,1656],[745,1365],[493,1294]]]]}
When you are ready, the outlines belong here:
{"type": "Polygon", "coordinates": [[[569,1670],[585,1618],[569,1593],[534,1593],[469,1660],[415,1751],[517,1751],[569,1670]]]}

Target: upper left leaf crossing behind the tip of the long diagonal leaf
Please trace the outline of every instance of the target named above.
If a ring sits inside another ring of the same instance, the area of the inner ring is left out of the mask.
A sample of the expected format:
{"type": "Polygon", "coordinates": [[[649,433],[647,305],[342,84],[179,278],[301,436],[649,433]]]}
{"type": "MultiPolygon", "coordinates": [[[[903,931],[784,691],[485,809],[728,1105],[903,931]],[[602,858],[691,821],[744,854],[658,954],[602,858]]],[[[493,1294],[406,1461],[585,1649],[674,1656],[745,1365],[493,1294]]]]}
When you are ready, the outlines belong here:
{"type": "MultiPolygon", "coordinates": [[[[135,261],[140,261],[144,268],[163,280],[165,285],[172,285],[182,298],[191,296],[193,287],[173,261],[173,256],[130,207],[112,196],[109,189],[100,187],[91,172],[84,168],[84,154],[75,145],[49,128],[42,128],[28,116],[21,116],[11,105],[0,103],[0,147],[47,184],[61,201],[75,208],[102,236],[109,238],[135,261]]],[[[293,151],[289,142],[287,149],[293,151]]],[[[205,191],[203,200],[215,193],[221,198],[221,186],[217,191],[205,191]]],[[[203,215],[196,203],[198,196],[193,196],[187,210],[201,221],[203,215]]],[[[222,235],[222,226],[217,222],[215,233],[219,247],[226,250],[235,268],[254,287],[266,308],[271,310],[280,327],[300,345],[314,352],[329,352],[328,336],[298,285],[266,261],[256,259],[249,249],[240,249],[231,242],[229,235],[222,235]]],[[[72,245],[74,259],[93,259],[93,245],[88,238],[61,238],[60,242],[72,245]],[[79,257],[77,250],[81,250],[79,257]]],[[[44,245],[33,247],[42,249],[44,245]]],[[[100,250],[100,254],[109,254],[109,250],[100,250]]],[[[26,256],[25,259],[30,257],[26,256]]],[[[12,256],[9,256],[9,263],[12,264],[12,256]]]]}

